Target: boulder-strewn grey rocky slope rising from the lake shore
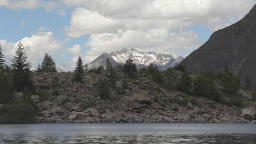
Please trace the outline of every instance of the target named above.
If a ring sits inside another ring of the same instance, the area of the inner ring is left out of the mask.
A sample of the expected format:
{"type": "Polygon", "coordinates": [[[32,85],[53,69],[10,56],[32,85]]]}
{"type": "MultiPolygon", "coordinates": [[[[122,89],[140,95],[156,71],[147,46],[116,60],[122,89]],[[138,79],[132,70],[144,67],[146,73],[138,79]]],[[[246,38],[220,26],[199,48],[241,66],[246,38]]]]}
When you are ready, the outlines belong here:
{"type": "MultiPolygon", "coordinates": [[[[179,78],[182,72],[175,71],[179,78]]],[[[255,123],[251,107],[242,109],[215,101],[167,90],[152,77],[139,73],[136,80],[127,79],[123,93],[111,89],[111,97],[102,99],[98,81],[106,79],[106,72],[89,72],[85,83],[72,81],[72,72],[34,73],[33,83],[38,95],[30,99],[38,108],[40,123],[123,123],[123,122],[212,122],[255,123]],[[249,118],[248,118],[249,117],[249,118]]],[[[117,72],[117,88],[122,87],[122,72],[117,72]]],[[[177,81],[175,81],[177,82],[177,81]]],[[[171,85],[175,83],[171,83],[171,85]]],[[[17,93],[16,98],[23,97],[17,93]]],[[[240,91],[243,101],[250,101],[250,92],[240,91]]],[[[254,104],[255,105],[255,104],[254,104]]]]}

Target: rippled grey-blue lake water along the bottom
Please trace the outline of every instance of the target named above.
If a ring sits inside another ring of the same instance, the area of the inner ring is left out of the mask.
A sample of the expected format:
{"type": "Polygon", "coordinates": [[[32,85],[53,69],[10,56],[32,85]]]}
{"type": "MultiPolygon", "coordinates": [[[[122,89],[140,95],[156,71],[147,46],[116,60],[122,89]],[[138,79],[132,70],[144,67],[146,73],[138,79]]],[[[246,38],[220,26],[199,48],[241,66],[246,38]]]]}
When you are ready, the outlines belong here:
{"type": "Polygon", "coordinates": [[[0,144],[256,144],[256,124],[0,125],[0,144]]]}

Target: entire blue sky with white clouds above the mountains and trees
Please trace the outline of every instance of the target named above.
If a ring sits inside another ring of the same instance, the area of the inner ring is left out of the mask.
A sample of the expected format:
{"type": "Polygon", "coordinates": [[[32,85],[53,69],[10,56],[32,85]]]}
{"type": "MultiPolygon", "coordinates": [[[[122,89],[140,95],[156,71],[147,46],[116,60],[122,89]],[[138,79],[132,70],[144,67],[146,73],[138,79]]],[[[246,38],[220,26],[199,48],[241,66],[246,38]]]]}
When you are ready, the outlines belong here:
{"type": "Polygon", "coordinates": [[[0,1],[0,45],[7,63],[22,41],[33,68],[49,53],[58,67],[72,70],[78,56],[89,63],[122,47],[185,57],[214,31],[243,18],[256,0],[33,2],[0,1]]]}

